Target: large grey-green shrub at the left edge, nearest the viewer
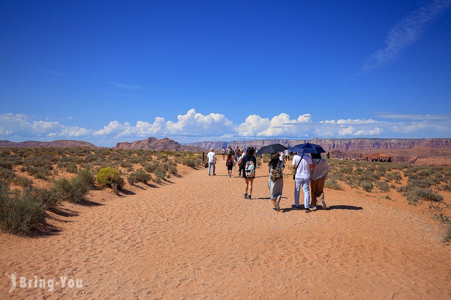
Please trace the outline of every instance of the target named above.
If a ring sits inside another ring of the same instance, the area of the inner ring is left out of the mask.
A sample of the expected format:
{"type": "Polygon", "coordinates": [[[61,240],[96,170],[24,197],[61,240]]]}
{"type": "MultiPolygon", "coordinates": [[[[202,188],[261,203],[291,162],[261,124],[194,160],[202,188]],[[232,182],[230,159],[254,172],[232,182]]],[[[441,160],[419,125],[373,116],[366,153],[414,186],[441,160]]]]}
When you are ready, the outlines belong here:
{"type": "Polygon", "coordinates": [[[28,190],[10,192],[0,184],[0,227],[11,233],[29,233],[45,221],[45,205],[28,190]]]}

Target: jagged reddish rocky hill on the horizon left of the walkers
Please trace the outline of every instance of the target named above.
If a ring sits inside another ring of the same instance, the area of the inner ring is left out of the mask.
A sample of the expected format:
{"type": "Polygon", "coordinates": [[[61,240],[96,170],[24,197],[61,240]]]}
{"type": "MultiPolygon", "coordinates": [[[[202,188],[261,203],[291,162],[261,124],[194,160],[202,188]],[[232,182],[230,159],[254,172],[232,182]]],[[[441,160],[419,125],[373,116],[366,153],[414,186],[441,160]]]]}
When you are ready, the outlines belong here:
{"type": "Polygon", "coordinates": [[[173,150],[173,151],[191,151],[198,152],[202,151],[202,148],[191,146],[191,145],[182,145],[179,142],[176,142],[170,138],[161,138],[158,139],[156,137],[148,137],[142,140],[135,140],[132,142],[123,141],[118,142],[114,147],[116,149],[145,149],[145,150],[173,150]]]}

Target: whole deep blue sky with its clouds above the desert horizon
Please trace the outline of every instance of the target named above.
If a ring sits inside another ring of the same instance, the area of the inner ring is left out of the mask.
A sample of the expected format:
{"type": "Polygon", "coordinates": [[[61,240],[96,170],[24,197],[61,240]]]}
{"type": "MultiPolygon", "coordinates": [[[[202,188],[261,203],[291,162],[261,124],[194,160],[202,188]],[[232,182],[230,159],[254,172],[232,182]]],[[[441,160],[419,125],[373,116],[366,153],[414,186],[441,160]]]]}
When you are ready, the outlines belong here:
{"type": "Polygon", "coordinates": [[[451,136],[451,1],[2,1],[0,139],[451,136]]]}

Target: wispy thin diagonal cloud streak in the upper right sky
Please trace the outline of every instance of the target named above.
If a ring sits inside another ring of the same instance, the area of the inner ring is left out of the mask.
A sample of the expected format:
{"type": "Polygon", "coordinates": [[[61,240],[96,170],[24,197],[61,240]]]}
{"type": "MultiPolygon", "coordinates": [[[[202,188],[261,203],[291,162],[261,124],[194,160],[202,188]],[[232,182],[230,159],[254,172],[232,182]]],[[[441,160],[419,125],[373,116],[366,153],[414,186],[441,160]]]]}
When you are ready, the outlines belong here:
{"type": "Polygon", "coordinates": [[[449,0],[434,0],[410,12],[388,31],[385,48],[365,58],[363,71],[378,68],[398,57],[403,49],[420,38],[425,24],[450,5],[449,0]]]}

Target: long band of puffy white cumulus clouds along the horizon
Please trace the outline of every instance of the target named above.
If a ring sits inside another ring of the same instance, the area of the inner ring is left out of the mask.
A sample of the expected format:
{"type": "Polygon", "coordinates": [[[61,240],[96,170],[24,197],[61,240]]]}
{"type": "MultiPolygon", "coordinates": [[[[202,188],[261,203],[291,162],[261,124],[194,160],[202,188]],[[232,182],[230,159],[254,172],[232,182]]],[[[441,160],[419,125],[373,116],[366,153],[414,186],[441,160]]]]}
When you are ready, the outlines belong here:
{"type": "Polygon", "coordinates": [[[202,114],[189,109],[176,120],[157,116],[153,121],[135,124],[112,120],[93,130],[68,126],[59,121],[32,120],[25,114],[0,114],[0,136],[23,137],[89,137],[97,140],[138,139],[148,136],[176,140],[232,140],[240,138],[308,138],[308,137],[446,137],[451,134],[450,118],[377,120],[373,118],[339,118],[314,121],[309,113],[272,117],[251,114],[234,123],[220,113],[202,114]]]}

